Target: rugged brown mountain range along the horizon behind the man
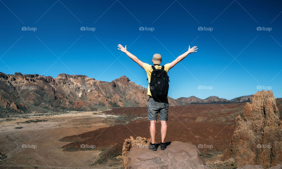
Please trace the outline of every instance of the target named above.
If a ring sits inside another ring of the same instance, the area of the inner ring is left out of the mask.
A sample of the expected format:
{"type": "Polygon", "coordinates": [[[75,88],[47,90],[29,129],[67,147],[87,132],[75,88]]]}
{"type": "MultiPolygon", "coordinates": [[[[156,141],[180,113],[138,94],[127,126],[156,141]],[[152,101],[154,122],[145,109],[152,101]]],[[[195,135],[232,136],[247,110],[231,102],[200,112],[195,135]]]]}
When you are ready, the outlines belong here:
{"type": "MultiPolygon", "coordinates": [[[[250,102],[253,95],[232,100],[216,96],[207,99],[197,97],[168,97],[170,106],[190,103],[250,102]]],[[[147,106],[147,88],[122,76],[112,82],[104,82],[85,75],[4,74],[0,72],[1,112],[47,111],[95,111],[112,107],[147,106]]]]}

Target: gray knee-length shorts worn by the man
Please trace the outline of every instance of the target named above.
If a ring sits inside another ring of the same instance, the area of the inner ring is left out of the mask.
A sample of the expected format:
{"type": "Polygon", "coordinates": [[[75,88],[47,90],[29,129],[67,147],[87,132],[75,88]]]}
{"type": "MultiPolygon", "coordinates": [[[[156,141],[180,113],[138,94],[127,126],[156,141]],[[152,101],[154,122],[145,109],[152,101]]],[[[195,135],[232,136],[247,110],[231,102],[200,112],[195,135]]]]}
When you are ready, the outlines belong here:
{"type": "Polygon", "coordinates": [[[147,101],[148,105],[148,120],[157,120],[158,113],[160,114],[160,120],[167,121],[168,117],[168,100],[167,97],[163,100],[149,97],[147,101]]]}

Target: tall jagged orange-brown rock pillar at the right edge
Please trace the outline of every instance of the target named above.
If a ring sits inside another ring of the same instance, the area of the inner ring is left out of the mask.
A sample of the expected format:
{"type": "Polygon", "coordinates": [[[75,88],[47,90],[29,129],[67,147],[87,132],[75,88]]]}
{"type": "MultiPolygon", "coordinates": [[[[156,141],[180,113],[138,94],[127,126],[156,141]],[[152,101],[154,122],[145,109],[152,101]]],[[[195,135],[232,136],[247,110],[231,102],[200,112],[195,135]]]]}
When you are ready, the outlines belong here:
{"type": "Polygon", "coordinates": [[[282,162],[282,129],[271,90],[254,94],[244,107],[243,118],[235,120],[235,131],[221,160],[230,157],[237,166],[273,167],[282,162]]]}

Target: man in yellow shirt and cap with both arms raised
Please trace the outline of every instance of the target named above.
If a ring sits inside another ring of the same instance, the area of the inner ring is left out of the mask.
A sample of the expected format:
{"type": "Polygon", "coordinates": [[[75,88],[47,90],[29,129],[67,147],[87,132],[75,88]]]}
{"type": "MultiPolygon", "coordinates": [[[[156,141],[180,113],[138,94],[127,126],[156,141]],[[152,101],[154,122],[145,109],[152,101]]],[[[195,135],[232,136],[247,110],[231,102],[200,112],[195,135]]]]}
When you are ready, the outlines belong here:
{"type": "MultiPolygon", "coordinates": [[[[165,145],[165,137],[167,135],[167,117],[168,117],[168,100],[167,100],[167,96],[164,99],[158,99],[155,97],[152,97],[151,91],[150,91],[150,80],[151,80],[151,73],[153,71],[152,66],[147,64],[147,63],[143,63],[141,60],[139,60],[135,55],[132,55],[130,52],[128,52],[126,50],[126,45],[125,48],[118,44],[117,48],[118,50],[124,52],[130,59],[132,59],[134,62],[136,62],[138,65],[140,65],[143,69],[145,69],[146,73],[147,73],[147,77],[148,77],[148,81],[149,81],[149,85],[148,85],[148,92],[147,95],[149,96],[149,99],[147,101],[147,105],[148,105],[148,120],[150,120],[150,134],[151,134],[151,140],[152,143],[149,146],[149,149],[152,149],[152,151],[156,151],[157,147],[155,144],[155,136],[156,136],[156,123],[157,123],[157,116],[158,113],[160,114],[160,121],[162,124],[161,127],[161,143],[160,143],[160,147],[161,150],[164,150],[166,148],[165,145]]],[[[172,61],[171,63],[167,63],[164,65],[164,70],[166,72],[168,72],[169,69],[171,69],[172,67],[174,67],[178,62],[180,62],[181,60],[183,60],[189,53],[193,53],[193,52],[197,52],[197,46],[194,46],[193,48],[190,48],[187,50],[187,52],[183,53],[182,55],[178,56],[174,61],[172,61]]],[[[161,69],[162,66],[160,66],[161,62],[162,62],[162,57],[160,54],[154,54],[153,55],[153,59],[152,59],[153,65],[155,66],[156,69],[161,69]]]]}

